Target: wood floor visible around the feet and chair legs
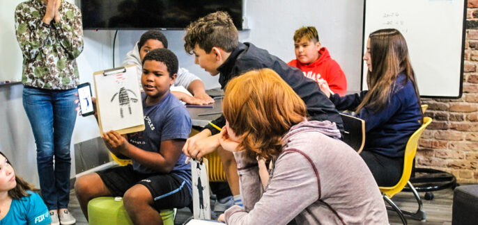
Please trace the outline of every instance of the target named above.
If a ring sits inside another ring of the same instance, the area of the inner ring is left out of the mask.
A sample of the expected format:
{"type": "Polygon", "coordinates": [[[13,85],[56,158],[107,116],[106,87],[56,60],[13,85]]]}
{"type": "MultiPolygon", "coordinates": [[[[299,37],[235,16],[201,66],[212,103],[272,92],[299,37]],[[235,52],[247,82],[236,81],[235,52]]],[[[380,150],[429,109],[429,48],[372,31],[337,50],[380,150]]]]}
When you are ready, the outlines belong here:
{"type": "MultiPolygon", "coordinates": [[[[452,201],[453,201],[453,190],[440,190],[433,192],[435,198],[431,201],[424,200],[424,193],[419,193],[422,197],[424,211],[426,212],[426,222],[420,222],[413,220],[407,217],[408,224],[427,224],[427,225],[451,225],[452,224],[452,201]]],[[[397,206],[404,210],[415,211],[417,208],[417,202],[413,197],[413,194],[410,192],[401,192],[396,194],[392,201],[396,203],[397,206]]],[[[77,225],[88,224],[85,217],[83,216],[82,210],[79,208],[77,198],[75,197],[74,190],[70,192],[70,211],[72,215],[77,219],[77,225]]],[[[176,215],[175,224],[183,224],[185,219],[189,218],[191,213],[189,209],[184,208],[178,210],[176,215]]],[[[392,210],[388,212],[390,224],[402,224],[400,218],[392,210]]]]}

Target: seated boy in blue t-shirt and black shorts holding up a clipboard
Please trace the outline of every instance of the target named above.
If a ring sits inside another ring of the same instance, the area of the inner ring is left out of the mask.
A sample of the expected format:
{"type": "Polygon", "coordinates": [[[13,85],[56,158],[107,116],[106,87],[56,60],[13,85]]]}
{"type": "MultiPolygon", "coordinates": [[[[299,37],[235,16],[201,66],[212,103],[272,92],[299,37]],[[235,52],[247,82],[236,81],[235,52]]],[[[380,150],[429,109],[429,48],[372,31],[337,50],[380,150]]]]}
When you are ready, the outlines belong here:
{"type": "Polygon", "coordinates": [[[145,130],[128,135],[102,133],[108,149],[132,159],[78,178],[75,191],[88,218],[88,201],[123,197],[134,224],[162,224],[157,211],[191,203],[191,169],[181,151],[191,130],[186,108],[169,91],[178,72],[178,58],[168,49],[155,49],[143,60],[141,84],[145,130]]]}

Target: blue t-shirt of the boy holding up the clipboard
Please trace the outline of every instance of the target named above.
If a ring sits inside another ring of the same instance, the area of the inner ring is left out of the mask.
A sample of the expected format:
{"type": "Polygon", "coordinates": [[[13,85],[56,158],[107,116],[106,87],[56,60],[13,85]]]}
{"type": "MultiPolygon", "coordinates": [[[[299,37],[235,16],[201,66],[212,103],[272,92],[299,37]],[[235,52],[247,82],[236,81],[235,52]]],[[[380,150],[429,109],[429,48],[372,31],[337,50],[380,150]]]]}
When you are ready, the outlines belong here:
{"type": "MultiPolygon", "coordinates": [[[[131,133],[128,141],[144,151],[160,152],[164,140],[187,139],[191,132],[191,117],[183,104],[171,92],[154,106],[146,106],[146,94],[141,93],[143,101],[144,131],[131,133]]],[[[180,151],[180,150],[179,150],[180,151]]],[[[183,152],[174,165],[172,174],[183,178],[191,189],[191,165],[185,163],[183,152]]],[[[143,174],[156,174],[153,169],[133,161],[133,169],[143,174]]]]}

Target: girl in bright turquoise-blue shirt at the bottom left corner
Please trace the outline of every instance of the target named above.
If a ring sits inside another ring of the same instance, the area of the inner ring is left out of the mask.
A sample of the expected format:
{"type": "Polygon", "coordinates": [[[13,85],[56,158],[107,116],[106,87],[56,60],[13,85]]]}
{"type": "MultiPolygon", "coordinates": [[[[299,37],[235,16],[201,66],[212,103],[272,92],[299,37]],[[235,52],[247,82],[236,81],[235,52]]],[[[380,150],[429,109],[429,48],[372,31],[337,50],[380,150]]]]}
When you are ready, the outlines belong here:
{"type": "Polygon", "coordinates": [[[0,225],[50,224],[47,206],[0,152],[0,225]]]}

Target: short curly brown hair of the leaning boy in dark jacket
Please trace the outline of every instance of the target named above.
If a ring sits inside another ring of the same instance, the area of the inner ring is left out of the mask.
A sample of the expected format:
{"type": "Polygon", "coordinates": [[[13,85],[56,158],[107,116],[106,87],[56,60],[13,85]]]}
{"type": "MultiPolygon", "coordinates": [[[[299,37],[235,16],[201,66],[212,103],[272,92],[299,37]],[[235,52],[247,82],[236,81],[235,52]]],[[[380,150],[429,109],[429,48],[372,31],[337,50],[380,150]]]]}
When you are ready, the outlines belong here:
{"type": "Polygon", "coordinates": [[[196,44],[206,53],[210,53],[213,47],[231,52],[239,45],[239,33],[229,14],[218,11],[187,26],[184,40],[184,49],[191,55],[196,44]]]}

